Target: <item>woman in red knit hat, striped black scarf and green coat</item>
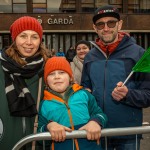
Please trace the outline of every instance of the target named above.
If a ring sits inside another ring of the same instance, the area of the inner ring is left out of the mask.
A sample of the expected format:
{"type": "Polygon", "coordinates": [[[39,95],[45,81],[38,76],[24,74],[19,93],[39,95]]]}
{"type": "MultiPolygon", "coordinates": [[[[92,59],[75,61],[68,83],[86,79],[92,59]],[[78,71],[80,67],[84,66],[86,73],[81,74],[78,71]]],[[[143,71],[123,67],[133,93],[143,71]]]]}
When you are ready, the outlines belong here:
{"type": "Polygon", "coordinates": [[[37,95],[43,90],[43,82],[38,89],[39,79],[49,57],[42,45],[42,26],[35,18],[17,19],[10,33],[13,43],[0,53],[0,149],[3,150],[11,150],[21,138],[33,133],[37,95]]]}

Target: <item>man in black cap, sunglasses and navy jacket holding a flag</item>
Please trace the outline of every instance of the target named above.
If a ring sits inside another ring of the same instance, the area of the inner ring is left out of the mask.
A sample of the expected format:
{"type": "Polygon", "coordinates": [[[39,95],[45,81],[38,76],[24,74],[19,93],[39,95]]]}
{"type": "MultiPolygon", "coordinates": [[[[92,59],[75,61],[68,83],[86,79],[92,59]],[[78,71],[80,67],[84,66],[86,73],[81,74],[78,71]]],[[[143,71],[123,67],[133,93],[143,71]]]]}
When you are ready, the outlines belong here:
{"type": "MultiPolygon", "coordinates": [[[[133,38],[121,32],[118,9],[103,6],[95,11],[93,28],[99,38],[84,59],[81,84],[96,97],[108,117],[107,128],[142,126],[142,108],[150,106],[150,74],[134,73],[123,82],[144,53],[133,38]]],[[[141,135],[137,143],[140,148],[141,135]]],[[[105,148],[105,141],[101,141],[105,148]]],[[[136,135],[107,138],[108,150],[135,150],[136,135]]]]}

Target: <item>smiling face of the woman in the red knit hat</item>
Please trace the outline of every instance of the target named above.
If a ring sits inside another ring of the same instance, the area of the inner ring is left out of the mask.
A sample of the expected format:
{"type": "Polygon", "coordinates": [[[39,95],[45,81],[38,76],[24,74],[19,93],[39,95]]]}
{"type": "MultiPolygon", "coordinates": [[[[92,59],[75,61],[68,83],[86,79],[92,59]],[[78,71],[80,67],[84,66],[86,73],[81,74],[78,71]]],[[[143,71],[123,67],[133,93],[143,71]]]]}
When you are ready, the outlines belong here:
{"type": "Polygon", "coordinates": [[[37,32],[25,30],[16,37],[16,46],[22,57],[31,57],[39,49],[40,37],[37,32]]]}

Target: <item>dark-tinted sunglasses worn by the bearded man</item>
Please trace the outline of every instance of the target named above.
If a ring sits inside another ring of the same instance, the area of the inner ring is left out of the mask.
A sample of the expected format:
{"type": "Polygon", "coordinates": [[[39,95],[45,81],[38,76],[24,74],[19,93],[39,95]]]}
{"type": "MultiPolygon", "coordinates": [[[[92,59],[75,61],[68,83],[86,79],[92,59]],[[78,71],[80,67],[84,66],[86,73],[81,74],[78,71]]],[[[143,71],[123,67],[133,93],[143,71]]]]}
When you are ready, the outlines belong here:
{"type": "Polygon", "coordinates": [[[118,22],[117,20],[110,20],[110,21],[107,21],[107,22],[98,22],[98,23],[95,24],[95,26],[98,30],[104,29],[106,24],[109,28],[114,28],[116,26],[117,22],[118,22]]]}

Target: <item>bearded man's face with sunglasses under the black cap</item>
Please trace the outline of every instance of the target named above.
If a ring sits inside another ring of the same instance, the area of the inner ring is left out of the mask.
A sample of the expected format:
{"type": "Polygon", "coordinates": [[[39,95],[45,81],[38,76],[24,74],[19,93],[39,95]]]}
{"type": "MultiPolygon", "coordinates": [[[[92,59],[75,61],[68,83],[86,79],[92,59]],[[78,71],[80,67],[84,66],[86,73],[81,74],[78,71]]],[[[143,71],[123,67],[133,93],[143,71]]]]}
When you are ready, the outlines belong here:
{"type": "Polygon", "coordinates": [[[114,17],[103,17],[93,24],[93,28],[104,44],[111,44],[118,40],[118,31],[121,30],[122,23],[122,20],[119,21],[114,17]],[[112,23],[115,23],[115,25],[113,26],[112,23]],[[101,29],[102,24],[105,25],[104,28],[101,29]]]}

